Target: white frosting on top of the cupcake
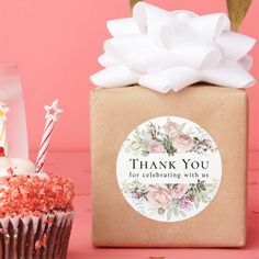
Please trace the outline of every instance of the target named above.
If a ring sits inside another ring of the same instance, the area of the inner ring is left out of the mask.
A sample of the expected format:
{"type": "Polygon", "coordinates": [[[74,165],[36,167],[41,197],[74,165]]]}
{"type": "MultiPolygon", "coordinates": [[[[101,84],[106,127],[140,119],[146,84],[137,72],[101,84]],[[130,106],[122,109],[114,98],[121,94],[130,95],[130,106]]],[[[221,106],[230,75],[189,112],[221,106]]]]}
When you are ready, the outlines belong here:
{"type": "Polygon", "coordinates": [[[35,165],[27,159],[0,157],[0,177],[12,174],[48,178],[46,172],[36,172],[35,165]]]}

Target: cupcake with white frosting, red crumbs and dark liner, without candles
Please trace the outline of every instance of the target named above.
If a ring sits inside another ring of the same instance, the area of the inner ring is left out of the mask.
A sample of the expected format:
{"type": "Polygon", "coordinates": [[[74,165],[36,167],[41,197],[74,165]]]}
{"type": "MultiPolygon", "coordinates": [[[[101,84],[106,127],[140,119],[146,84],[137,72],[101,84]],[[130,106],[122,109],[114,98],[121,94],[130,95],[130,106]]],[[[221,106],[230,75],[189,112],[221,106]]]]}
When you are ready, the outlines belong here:
{"type": "Polygon", "coordinates": [[[66,258],[74,184],[0,148],[0,258],[66,258]]]}

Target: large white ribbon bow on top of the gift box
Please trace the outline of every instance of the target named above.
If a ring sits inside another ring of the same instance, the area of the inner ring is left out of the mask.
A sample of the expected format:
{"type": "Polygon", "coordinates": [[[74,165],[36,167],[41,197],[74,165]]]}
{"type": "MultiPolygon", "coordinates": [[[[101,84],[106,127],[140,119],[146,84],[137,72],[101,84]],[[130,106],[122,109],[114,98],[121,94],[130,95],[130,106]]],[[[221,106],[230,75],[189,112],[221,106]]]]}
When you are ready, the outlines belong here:
{"type": "Polygon", "coordinates": [[[112,38],[99,57],[103,70],[90,77],[99,87],[139,83],[158,92],[179,91],[206,81],[230,88],[248,88],[248,52],[255,38],[230,31],[226,14],[199,16],[190,11],[169,12],[138,2],[133,18],[108,22],[112,38]]]}

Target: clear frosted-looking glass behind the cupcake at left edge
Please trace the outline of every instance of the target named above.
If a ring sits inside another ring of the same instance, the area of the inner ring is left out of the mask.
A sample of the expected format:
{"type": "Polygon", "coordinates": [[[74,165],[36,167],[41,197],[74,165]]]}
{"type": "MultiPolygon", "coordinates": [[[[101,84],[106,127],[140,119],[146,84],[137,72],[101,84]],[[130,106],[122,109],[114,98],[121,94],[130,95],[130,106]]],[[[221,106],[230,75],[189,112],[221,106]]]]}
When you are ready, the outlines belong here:
{"type": "Polygon", "coordinates": [[[29,157],[25,109],[15,64],[0,63],[0,146],[10,157],[29,157]]]}

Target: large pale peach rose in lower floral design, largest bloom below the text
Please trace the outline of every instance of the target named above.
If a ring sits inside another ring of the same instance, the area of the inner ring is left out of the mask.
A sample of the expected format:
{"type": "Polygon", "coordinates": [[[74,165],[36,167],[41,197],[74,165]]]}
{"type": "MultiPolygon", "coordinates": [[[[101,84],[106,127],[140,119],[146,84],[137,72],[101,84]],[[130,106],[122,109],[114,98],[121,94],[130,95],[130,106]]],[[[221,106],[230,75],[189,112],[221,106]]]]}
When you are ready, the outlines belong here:
{"type": "Polygon", "coordinates": [[[168,192],[161,188],[149,188],[147,193],[147,200],[150,204],[158,209],[167,207],[170,202],[168,192]]]}

